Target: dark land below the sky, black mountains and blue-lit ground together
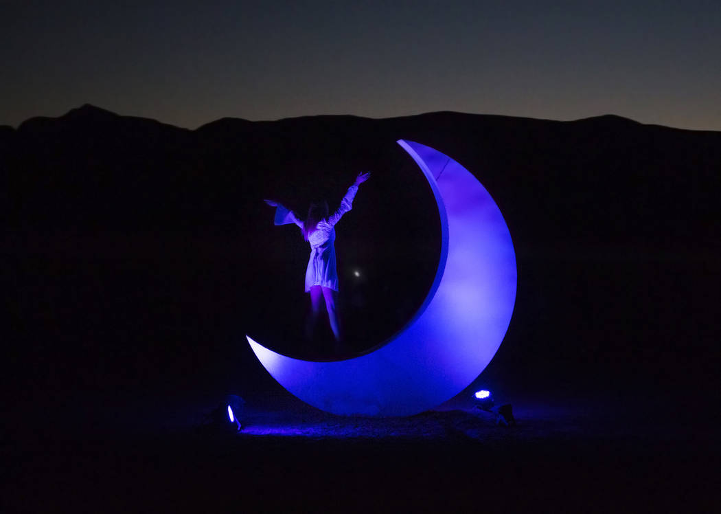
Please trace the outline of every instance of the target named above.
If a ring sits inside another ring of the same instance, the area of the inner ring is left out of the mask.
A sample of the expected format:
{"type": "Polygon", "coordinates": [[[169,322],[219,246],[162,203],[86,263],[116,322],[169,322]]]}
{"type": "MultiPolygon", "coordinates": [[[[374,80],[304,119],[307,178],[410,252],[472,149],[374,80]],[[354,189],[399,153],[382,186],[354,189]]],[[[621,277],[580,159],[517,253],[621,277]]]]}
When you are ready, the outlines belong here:
{"type": "Polygon", "coordinates": [[[85,105],[0,127],[0,170],[3,512],[720,508],[721,133],[461,113],[189,131],[85,105]],[[446,404],[337,417],[245,342],[324,352],[297,336],[306,243],[262,199],[303,212],[373,172],[336,242],[348,344],[372,347],[438,259],[400,138],[460,162],[500,206],[516,307],[446,404]],[[516,427],[474,409],[479,388],[516,427]],[[242,432],[198,430],[228,393],[246,401],[242,432]]]}

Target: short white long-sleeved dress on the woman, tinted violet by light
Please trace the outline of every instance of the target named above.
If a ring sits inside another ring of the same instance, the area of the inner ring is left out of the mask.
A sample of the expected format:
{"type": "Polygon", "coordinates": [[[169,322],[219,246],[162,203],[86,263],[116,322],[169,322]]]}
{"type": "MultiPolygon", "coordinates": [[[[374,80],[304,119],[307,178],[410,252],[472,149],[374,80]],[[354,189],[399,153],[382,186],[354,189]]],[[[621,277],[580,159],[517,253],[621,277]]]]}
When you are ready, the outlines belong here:
{"type": "MultiPolygon", "coordinates": [[[[340,201],[338,209],[328,219],[322,219],[316,225],[316,230],[308,236],[311,245],[311,256],[306,269],[306,292],[313,286],[322,286],[338,290],[338,274],[335,269],[335,224],[343,214],[353,208],[353,199],[358,192],[358,186],[350,186],[340,201]]],[[[275,225],[295,223],[303,230],[303,222],[293,214],[293,211],[278,204],[275,209],[275,225]]]]}

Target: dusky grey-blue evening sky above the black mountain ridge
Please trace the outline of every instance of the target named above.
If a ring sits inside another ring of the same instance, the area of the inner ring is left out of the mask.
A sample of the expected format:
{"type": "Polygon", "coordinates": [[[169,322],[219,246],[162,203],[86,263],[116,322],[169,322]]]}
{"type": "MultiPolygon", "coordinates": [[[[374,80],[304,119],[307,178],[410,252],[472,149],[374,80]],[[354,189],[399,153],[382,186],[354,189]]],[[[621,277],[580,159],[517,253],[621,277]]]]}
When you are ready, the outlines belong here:
{"type": "Polygon", "coordinates": [[[0,125],[606,113],[721,130],[721,1],[0,0],[0,125]]]}

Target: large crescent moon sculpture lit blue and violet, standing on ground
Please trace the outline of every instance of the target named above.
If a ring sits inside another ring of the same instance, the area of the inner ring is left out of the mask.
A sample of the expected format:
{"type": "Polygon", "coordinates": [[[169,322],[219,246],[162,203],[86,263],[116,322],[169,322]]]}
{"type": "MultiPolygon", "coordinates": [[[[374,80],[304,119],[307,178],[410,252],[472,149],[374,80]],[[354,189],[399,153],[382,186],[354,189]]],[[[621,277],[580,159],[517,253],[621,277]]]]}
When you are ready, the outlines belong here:
{"type": "Polygon", "coordinates": [[[458,162],[398,143],[423,170],[441,217],[441,258],[423,305],[372,352],[315,362],[247,337],[265,369],[293,395],[334,414],[407,416],[456,396],[485,369],[516,302],[516,253],[500,209],[458,162]]]}

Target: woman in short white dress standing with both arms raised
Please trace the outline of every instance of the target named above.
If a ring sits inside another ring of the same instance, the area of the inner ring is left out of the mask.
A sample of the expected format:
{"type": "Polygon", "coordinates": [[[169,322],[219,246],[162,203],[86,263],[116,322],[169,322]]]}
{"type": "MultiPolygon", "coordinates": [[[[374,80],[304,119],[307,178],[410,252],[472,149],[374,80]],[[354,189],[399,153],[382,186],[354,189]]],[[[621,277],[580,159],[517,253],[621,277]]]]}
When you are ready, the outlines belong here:
{"type": "Polygon", "coordinates": [[[335,224],[343,214],[353,208],[353,198],[358,192],[358,186],[368,180],[370,173],[359,173],[353,186],[348,188],[338,209],[328,215],[327,201],[314,201],[308,209],[308,216],[303,221],[296,217],[290,209],[277,201],[265,200],[265,203],[276,207],[275,225],[295,223],[301,228],[303,238],[311,245],[311,256],[306,269],[306,292],[311,295],[311,315],[306,323],[306,337],[313,339],[315,326],[320,314],[320,298],[325,300],[328,312],[328,321],[335,340],[340,341],[340,323],[336,309],[338,292],[338,274],[335,269],[335,224]]]}

